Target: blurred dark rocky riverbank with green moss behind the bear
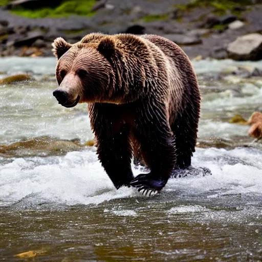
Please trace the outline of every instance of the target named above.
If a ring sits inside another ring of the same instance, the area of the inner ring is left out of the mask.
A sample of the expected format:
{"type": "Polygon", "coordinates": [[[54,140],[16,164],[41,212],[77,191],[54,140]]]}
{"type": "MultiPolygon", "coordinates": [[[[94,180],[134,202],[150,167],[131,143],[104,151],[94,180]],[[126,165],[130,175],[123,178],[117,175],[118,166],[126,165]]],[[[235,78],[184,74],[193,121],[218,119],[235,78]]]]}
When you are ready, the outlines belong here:
{"type": "Polygon", "coordinates": [[[0,0],[0,6],[1,56],[52,56],[54,38],[74,43],[99,31],[163,35],[190,58],[262,58],[257,46],[248,55],[237,51],[243,42],[228,48],[238,36],[262,32],[261,0],[0,0]]]}

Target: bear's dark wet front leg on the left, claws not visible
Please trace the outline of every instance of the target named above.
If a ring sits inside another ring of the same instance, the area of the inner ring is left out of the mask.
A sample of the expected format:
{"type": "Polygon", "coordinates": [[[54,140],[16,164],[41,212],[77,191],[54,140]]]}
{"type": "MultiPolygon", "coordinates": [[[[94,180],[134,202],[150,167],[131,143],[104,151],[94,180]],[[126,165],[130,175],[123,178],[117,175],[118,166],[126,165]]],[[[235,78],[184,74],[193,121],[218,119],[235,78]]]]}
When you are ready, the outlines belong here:
{"type": "Polygon", "coordinates": [[[91,111],[91,126],[97,140],[98,158],[117,189],[130,186],[134,179],[129,129],[122,123],[117,106],[95,104],[91,111]]]}

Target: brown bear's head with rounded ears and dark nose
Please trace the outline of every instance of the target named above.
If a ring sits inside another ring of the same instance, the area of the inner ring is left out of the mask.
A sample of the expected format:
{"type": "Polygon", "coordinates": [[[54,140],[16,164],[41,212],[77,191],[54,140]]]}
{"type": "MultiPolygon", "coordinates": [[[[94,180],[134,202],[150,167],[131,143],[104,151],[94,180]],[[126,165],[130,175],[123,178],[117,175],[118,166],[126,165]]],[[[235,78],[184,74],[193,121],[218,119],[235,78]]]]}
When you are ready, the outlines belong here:
{"type": "Polygon", "coordinates": [[[78,102],[110,102],[115,75],[110,57],[115,42],[110,37],[98,41],[80,41],[71,45],[58,37],[53,42],[57,58],[56,79],[59,87],[53,92],[59,104],[73,107],[78,102]]]}

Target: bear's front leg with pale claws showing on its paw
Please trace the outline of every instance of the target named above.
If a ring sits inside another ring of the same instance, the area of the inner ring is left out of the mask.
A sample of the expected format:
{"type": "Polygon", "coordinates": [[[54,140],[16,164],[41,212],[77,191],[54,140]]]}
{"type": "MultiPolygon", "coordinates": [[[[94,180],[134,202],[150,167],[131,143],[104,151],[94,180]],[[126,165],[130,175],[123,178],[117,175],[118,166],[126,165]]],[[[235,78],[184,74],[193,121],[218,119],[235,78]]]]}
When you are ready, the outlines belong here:
{"type": "MultiPolygon", "coordinates": [[[[154,104],[154,103],[153,103],[154,104]]],[[[150,195],[160,191],[167,183],[176,164],[176,147],[165,109],[162,105],[144,106],[137,120],[137,132],[141,143],[143,159],[150,172],[139,174],[130,185],[150,195]],[[148,109],[151,109],[150,112],[148,109]],[[147,111],[146,111],[147,110],[147,111]],[[142,118],[143,116],[143,118],[142,118]]]]}

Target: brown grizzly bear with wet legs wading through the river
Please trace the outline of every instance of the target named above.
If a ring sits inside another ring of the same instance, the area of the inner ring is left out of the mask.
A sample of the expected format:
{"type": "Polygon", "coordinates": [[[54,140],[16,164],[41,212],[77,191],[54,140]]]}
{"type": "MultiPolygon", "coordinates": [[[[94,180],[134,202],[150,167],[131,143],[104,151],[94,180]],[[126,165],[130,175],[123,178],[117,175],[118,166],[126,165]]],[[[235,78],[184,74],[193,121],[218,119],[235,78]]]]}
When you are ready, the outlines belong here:
{"type": "Polygon", "coordinates": [[[157,35],[92,33],[71,45],[53,42],[53,92],[73,107],[88,103],[98,158],[115,187],[159,192],[172,170],[191,165],[200,89],[189,58],[157,35]],[[150,171],[133,176],[131,160],[150,171]]]}

